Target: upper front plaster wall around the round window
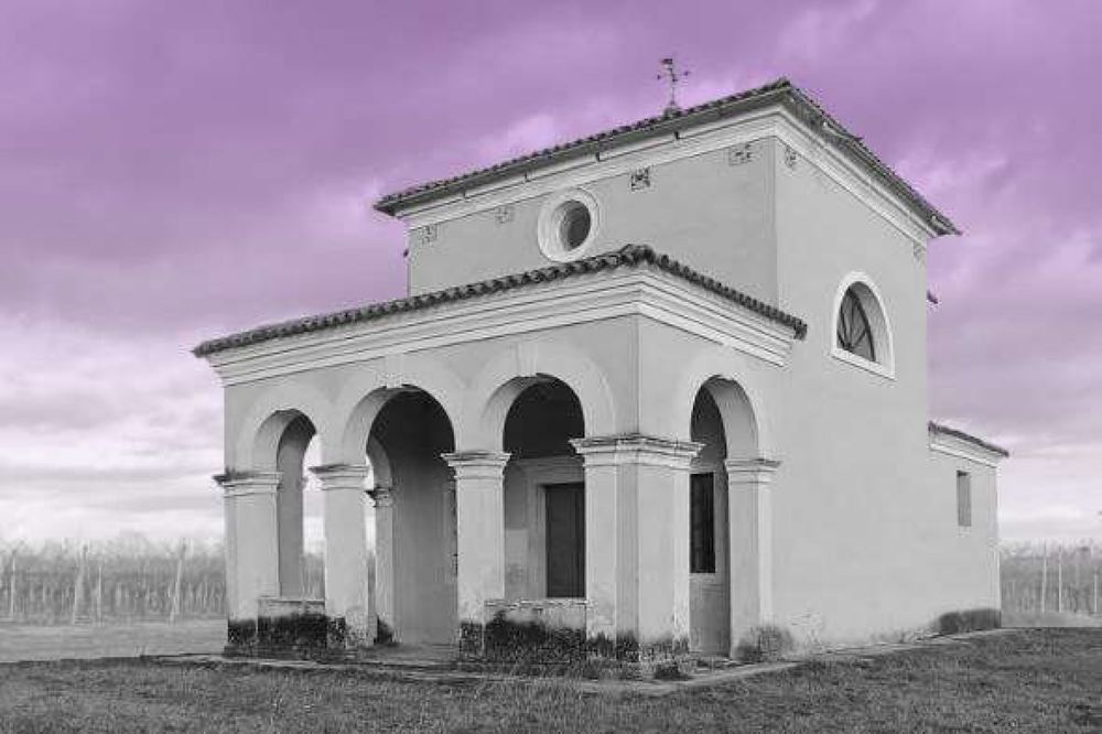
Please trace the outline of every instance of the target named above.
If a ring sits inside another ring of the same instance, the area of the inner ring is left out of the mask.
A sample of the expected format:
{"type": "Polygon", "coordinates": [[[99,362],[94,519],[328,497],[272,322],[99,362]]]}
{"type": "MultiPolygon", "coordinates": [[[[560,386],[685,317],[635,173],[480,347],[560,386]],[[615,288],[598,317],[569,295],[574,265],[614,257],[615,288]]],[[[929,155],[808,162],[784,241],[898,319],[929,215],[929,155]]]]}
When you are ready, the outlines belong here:
{"type": "MultiPolygon", "coordinates": [[[[651,185],[633,191],[630,174],[585,184],[598,202],[601,228],[588,253],[628,244],[660,252],[776,302],[771,156],[768,139],[753,159],[731,165],[726,150],[651,166],[651,185]]],[[[511,222],[496,209],[442,222],[436,239],[410,236],[410,291],[423,293],[553,265],[540,251],[537,222],[552,194],[514,203],[511,222]]]]}

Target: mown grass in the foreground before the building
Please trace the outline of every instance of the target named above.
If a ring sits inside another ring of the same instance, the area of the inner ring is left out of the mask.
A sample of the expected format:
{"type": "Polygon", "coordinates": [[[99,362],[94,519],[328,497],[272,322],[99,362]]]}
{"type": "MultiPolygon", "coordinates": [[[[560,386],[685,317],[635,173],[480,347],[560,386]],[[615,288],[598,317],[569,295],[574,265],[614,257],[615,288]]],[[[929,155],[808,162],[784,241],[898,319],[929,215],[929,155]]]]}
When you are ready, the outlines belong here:
{"type": "Polygon", "coordinates": [[[148,660],[0,666],[0,732],[1102,731],[1102,633],[1015,630],[665,698],[148,660]]]}

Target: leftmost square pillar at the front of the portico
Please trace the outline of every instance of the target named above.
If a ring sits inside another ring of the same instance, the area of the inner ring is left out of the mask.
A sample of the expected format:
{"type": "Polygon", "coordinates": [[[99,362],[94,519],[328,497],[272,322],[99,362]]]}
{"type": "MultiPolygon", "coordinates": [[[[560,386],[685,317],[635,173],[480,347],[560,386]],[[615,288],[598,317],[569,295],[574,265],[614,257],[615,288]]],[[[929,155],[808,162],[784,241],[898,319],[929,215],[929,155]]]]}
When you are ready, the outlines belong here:
{"type": "Polygon", "coordinates": [[[279,593],[279,472],[214,477],[226,503],[226,612],[231,651],[256,649],[259,600],[279,593]]]}

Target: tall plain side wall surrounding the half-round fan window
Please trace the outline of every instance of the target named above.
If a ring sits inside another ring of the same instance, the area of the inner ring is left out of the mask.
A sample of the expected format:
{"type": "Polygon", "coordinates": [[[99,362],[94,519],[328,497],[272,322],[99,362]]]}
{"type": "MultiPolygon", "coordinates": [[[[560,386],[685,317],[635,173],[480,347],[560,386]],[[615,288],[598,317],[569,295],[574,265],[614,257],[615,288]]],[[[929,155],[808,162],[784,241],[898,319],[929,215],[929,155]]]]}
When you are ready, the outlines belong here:
{"type": "Polygon", "coordinates": [[[808,337],[775,404],[775,616],[807,643],[892,637],[974,606],[976,585],[952,573],[997,583],[944,511],[955,485],[930,477],[925,265],[916,242],[808,160],[776,158],[779,301],[808,337]],[[894,379],[831,356],[833,299],[855,270],[883,295],[894,379]]]}

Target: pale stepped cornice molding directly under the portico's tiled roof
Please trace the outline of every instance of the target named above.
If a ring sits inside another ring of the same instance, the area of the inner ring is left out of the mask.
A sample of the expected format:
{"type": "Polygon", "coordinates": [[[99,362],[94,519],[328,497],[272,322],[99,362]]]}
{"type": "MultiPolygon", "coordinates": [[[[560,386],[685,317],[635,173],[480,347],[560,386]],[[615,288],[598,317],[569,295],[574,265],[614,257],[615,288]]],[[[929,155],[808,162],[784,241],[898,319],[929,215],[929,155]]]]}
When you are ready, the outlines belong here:
{"type": "Polygon", "coordinates": [[[639,316],[784,366],[790,328],[683,279],[625,268],[279,337],[207,357],[225,385],[608,319],[639,316]]]}

